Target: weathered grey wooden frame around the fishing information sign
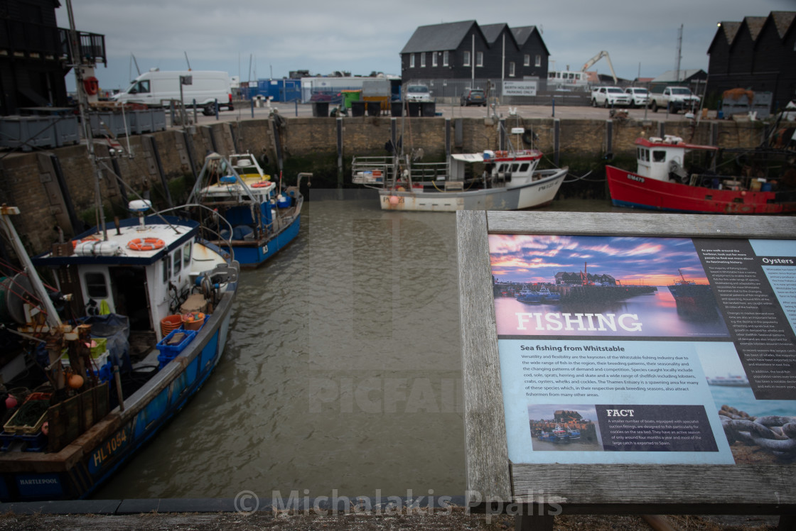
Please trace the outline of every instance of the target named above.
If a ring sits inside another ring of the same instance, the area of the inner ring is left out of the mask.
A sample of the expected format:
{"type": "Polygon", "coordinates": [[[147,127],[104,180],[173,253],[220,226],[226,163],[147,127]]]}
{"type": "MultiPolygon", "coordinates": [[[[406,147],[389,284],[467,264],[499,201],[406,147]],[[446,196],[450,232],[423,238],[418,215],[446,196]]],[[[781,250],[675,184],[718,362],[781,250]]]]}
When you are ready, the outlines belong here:
{"type": "MultiPolygon", "coordinates": [[[[458,211],[457,243],[470,510],[556,514],[779,514],[792,529],[790,465],[510,463],[489,234],[796,239],[796,217],[458,211]]],[[[563,452],[564,454],[566,452],[563,452]]],[[[565,456],[562,455],[562,459],[565,456]]],[[[540,527],[552,529],[552,517],[540,527]]],[[[781,528],[782,529],[782,528],[781,528]]]]}

